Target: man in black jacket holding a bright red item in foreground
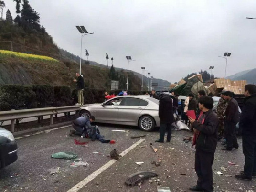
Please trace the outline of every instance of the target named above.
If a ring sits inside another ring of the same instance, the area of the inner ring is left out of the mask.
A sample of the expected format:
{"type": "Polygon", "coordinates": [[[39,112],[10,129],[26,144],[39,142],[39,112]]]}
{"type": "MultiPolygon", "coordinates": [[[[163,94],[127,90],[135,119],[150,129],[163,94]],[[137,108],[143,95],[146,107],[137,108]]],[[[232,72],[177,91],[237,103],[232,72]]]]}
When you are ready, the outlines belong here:
{"type": "Polygon", "coordinates": [[[217,127],[219,119],[213,112],[213,98],[202,96],[199,98],[201,113],[197,120],[189,117],[194,129],[193,145],[196,145],[195,171],[198,176],[197,185],[190,187],[192,191],[213,192],[213,160],[218,137],[217,127]]]}

